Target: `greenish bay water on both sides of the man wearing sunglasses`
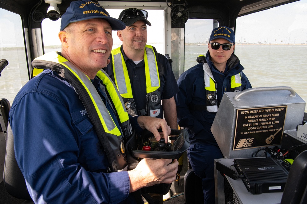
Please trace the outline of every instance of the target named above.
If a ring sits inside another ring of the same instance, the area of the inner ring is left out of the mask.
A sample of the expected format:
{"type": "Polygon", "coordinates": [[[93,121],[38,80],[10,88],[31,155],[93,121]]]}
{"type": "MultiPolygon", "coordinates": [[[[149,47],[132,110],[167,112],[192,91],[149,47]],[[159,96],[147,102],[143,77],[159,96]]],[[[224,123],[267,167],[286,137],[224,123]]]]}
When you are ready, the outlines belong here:
{"type": "MultiPolygon", "coordinates": [[[[206,55],[207,50],[208,45],[185,45],[184,70],[195,66],[197,56],[206,55]]],[[[234,54],[252,87],[291,87],[307,101],[306,44],[236,44],[234,54]]]]}

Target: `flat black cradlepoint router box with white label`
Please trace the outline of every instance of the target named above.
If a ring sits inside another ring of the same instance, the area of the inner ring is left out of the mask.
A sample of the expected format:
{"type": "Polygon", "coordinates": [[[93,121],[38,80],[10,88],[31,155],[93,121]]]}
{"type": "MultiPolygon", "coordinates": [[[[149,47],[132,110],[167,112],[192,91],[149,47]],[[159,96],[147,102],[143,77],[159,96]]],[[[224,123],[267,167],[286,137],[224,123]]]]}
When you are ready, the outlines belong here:
{"type": "Polygon", "coordinates": [[[284,191],[289,173],[274,158],[234,159],[234,167],[251,194],[284,191]]]}

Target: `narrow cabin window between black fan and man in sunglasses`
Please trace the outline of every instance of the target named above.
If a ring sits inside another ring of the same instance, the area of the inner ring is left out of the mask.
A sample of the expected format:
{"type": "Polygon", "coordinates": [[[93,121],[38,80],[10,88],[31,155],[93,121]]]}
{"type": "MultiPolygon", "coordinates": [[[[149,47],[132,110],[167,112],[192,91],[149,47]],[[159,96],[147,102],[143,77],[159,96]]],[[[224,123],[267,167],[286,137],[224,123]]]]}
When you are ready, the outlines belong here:
{"type": "Polygon", "coordinates": [[[214,20],[188,19],[184,27],[184,71],[187,71],[198,64],[196,58],[199,55],[206,56],[214,20]]]}

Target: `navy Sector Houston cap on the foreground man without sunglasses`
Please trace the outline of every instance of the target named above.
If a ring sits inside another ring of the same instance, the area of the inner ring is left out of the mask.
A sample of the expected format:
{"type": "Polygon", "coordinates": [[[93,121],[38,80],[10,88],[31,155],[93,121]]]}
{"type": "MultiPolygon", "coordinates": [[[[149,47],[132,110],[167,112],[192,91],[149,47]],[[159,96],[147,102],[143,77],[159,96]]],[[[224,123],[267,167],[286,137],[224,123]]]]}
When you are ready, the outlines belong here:
{"type": "Polygon", "coordinates": [[[62,15],[61,30],[64,30],[69,23],[84,21],[93,18],[104,18],[111,25],[112,30],[122,30],[126,25],[110,17],[103,6],[94,1],[73,1],[62,15]]]}

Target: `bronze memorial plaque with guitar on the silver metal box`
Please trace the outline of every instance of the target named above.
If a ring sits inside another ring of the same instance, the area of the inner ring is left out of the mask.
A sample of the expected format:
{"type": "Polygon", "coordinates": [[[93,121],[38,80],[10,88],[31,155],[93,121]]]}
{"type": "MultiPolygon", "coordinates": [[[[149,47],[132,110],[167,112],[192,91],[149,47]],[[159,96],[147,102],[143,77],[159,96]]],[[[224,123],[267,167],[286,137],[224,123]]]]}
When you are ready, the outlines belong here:
{"type": "Polygon", "coordinates": [[[237,109],[233,150],[281,144],[287,106],[237,109]]]}

